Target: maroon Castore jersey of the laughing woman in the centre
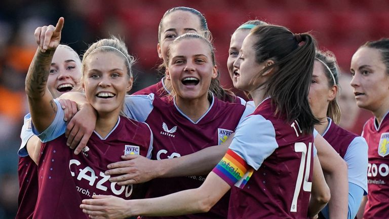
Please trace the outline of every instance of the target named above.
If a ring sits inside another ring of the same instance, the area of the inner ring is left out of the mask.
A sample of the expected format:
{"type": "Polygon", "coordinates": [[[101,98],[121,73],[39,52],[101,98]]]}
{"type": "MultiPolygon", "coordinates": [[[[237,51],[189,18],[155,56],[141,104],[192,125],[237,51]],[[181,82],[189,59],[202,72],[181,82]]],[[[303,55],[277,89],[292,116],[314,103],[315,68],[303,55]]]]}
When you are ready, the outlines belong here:
{"type": "MultiPolygon", "coordinates": [[[[218,145],[237,127],[245,106],[223,102],[216,97],[209,111],[197,122],[187,118],[169,97],[153,100],[146,122],[154,137],[152,159],[171,159],[218,145]]],[[[206,175],[157,178],[149,182],[147,197],[160,197],[182,190],[198,188],[206,175]]],[[[150,218],[226,218],[229,193],[207,213],[150,218]]],[[[142,217],[148,218],[148,217],[142,217]]]]}

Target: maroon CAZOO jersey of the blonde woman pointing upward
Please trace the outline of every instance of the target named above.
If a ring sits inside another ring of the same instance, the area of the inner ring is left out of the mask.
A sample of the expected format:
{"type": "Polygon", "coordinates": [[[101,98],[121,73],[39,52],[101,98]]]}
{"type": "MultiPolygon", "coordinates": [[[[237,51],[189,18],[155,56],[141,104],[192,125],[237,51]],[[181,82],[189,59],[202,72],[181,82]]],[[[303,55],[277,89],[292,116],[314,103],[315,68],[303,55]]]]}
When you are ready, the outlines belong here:
{"type": "Polygon", "coordinates": [[[42,143],[38,164],[39,192],[33,218],[89,218],[80,204],[94,194],[130,199],[135,185],[118,186],[105,175],[107,165],[125,154],[150,153],[151,131],[147,124],[120,117],[104,139],[96,132],[79,155],[66,146],[64,134],[42,143]]]}

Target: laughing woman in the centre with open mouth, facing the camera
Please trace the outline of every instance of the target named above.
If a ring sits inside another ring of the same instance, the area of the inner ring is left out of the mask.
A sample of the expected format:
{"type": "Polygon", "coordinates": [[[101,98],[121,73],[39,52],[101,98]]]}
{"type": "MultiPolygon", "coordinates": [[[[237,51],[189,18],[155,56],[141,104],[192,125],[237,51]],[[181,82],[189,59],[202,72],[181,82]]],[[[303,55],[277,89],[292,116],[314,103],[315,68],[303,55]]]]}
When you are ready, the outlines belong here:
{"type": "MultiPolygon", "coordinates": [[[[211,81],[217,77],[215,63],[210,41],[196,33],[185,33],[170,44],[167,53],[166,80],[172,84],[171,95],[126,97],[126,114],[147,122],[154,134],[151,159],[181,157],[219,145],[252,113],[253,108],[221,101],[210,92],[211,81]]],[[[146,197],[197,188],[211,168],[191,173],[190,177],[153,179],[148,182],[146,197]]],[[[226,218],[227,209],[228,195],[207,213],[174,218],[226,218]]]]}

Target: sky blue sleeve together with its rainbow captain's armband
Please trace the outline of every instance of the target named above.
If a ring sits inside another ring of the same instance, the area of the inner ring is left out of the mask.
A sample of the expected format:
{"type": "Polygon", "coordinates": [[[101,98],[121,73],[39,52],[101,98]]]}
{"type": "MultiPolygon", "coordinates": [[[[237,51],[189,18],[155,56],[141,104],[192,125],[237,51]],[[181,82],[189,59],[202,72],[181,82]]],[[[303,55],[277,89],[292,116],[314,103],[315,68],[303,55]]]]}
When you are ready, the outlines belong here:
{"type": "Polygon", "coordinates": [[[227,153],[212,171],[228,185],[243,188],[254,169],[277,148],[273,124],[260,115],[250,115],[238,125],[227,153]]]}

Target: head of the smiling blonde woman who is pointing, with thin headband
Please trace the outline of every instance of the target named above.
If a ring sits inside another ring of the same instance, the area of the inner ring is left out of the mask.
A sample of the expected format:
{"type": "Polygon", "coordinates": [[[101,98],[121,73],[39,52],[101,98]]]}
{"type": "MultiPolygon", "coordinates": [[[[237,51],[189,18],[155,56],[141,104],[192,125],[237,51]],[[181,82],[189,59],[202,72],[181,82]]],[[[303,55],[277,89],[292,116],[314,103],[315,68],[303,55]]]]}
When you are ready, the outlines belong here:
{"type": "MultiPolygon", "coordinates": [[[[108,40],[102,40],[91,47],[83,59],[82,86],[88,102],[100,117],[106,113],[120,112],[126,92],[132,86],[132,57],[129,59],[115,49],[113,46],[116,45],[100,46],[107,45],[105,41],[108,40]],[[123,90],[126,92],[123,93],[123,90]]],[[[113,38],[112,42],[120,41],[113,38]]]]}

